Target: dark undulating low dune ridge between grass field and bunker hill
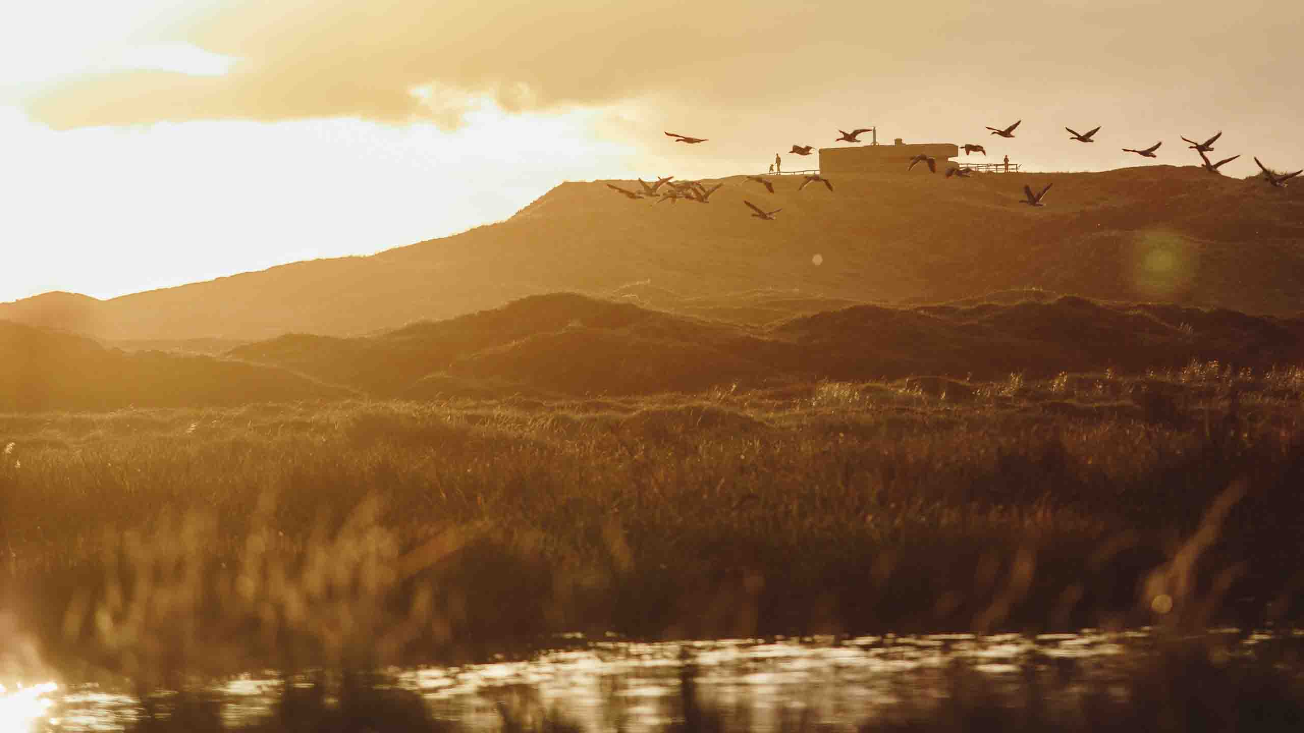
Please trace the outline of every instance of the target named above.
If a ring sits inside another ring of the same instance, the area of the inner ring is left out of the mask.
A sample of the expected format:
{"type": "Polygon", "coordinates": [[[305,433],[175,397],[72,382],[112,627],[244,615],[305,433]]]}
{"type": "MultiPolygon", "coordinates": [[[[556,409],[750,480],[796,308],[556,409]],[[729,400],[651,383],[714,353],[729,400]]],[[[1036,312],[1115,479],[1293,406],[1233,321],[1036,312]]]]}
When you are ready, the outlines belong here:
{"type": "Polygon", "coordinates": [[[360,338],[287,335],[231,356],[374,396],[702,393],[815,380],[1144,373],[1304,361],[1304,318],[1076,296],[857,305],[767,327],[574,293],[360,338]],[[1007,303],[999,300],[1005,299],[1007,303]]]}

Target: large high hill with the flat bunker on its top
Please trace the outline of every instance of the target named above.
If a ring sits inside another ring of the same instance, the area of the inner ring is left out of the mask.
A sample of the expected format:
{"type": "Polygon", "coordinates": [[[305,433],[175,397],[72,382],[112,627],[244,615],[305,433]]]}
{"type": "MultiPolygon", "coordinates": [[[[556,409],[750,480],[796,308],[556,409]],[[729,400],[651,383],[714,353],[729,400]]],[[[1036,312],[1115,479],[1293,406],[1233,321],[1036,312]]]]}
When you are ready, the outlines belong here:
{"type": "Polygon", "coordinates": [[[639,295],[622,291],[631,283],[689,301],[683,313],[754,323],[811,313],[812,303],[945,301],[1021,288],[1304,310],[1304,187],[1171,166],[969,180],[862,175],[840,177],[833,192],[798,192],[799,179],[780,177],[773,194],[735,176],[700,205],[630,201],[605,183],[565,183],[506,222],[370,257],[107,301],[47,293],[0,304],[0,318],[107,340],[343,337],[546,292],[639,295]],[[1025,184],[1047,183],[1045,207],[1018,202],[1025,184]],[[745,200],[782,213],[762,222],[745,200]],[[721,296],[734,292],[750,295],[721,296]],[[788,295],[762,304],[756,292],[788,295]]]}

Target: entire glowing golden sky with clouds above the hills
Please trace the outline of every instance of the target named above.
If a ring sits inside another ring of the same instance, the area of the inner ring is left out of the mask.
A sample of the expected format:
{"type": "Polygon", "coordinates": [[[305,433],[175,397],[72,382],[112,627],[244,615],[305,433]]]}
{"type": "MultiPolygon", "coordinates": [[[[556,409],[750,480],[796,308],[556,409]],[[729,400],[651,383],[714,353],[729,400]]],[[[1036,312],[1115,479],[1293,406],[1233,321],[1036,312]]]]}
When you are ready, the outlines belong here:
{"type": "Polygon", "coordinates": [[[1056,171],[1158,140],[1189,164],[1179,136],[1222,129],[1230,175],[1294,170],[1301,27],[1284,0],[10,3],[0,300],[366,254],[566,179],[758,172],[838,128],[1056,171]]]}

